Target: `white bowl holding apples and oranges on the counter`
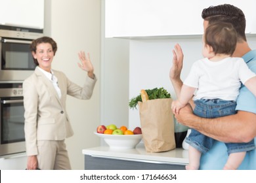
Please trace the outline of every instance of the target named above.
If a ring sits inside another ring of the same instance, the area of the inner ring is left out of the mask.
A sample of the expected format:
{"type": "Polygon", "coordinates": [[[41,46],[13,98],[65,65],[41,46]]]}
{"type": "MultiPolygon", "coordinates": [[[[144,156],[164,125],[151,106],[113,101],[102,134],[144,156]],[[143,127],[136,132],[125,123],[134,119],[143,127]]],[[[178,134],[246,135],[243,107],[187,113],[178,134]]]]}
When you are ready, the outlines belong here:
{"type": "Polygon", "coordinates": [[[106,144],[110,146],[110,148],[116,149],[131,149],[135,148],[137,144],[142,139],[142,135],[109,135],[109,134],[102,134],[96,133],[98,137],[104,139],[106,144]]]}

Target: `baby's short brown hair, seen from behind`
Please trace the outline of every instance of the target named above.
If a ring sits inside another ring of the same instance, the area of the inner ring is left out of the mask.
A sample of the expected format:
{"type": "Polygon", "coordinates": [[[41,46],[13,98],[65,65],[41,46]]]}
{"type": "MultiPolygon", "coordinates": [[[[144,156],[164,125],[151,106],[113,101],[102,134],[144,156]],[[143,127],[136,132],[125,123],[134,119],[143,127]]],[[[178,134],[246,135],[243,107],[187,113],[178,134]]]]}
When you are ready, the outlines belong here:
{"type": "Polygon", "coordinates": [[[236,50],[237,33],[233,25],[226,22],[209,24],[204,33],[205,44],[213,48],[215,54],[232,55],[236,50]]]}

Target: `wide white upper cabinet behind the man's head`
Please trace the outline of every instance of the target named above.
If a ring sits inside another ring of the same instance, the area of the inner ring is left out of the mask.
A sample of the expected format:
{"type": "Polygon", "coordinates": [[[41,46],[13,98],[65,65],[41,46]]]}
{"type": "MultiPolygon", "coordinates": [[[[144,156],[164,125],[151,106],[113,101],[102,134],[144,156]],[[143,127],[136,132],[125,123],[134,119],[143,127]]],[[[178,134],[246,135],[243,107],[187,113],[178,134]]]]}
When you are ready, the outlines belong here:
{"type": "Polygon", "coordinates": [[[247,18],[247,33],[256,32],[253,0],[106,0],[105,37],[202,35],[203,8],[229,3],[247,18]]]}

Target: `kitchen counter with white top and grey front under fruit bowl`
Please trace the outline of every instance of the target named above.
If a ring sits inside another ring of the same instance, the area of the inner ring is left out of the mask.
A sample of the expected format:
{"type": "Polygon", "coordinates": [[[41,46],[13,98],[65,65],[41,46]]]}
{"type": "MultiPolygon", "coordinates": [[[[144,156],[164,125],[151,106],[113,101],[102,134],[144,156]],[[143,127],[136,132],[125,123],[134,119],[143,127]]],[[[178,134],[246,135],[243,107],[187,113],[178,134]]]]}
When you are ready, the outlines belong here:
{"type": "Polygon", "coordinates": [[[167,152],[146,152],[142,142],[133,149],[98,146],[82,152],[85,156],[85,170],[171,170],[185,169],[188,164],[188,150],[176,148],[167,152]]]}

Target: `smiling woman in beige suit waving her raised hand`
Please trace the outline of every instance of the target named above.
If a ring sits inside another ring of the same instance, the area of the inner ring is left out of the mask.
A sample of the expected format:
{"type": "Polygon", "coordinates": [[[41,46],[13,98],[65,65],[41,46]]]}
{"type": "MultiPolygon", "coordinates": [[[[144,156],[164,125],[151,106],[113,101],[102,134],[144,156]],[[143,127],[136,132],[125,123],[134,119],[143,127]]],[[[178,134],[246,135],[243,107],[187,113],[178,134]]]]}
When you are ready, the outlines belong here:
{"type": "Polygon", "coordinates": [[[66,112],[66,95],[90,99],[96,83],[93,65],[79,52],[79,67],[87,71],[85,85],[77,86],[51,68],[56,42],[50,37],[31,44],[35,72],[23,82],[27,169],[71,169],[64,139],[73,135],[66,112]]]}

